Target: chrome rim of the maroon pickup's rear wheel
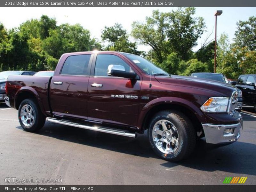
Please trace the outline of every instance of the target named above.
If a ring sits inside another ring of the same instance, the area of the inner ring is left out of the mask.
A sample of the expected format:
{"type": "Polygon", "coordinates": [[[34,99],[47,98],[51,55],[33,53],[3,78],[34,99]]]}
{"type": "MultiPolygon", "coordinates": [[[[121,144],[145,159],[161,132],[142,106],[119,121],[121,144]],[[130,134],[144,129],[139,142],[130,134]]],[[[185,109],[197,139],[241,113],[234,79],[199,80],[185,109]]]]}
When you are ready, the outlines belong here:
{"type": "Polygon", "coordinates": [[[20,119],[26,127],[31,127],[34,124],[35,112],[30,105],[26,104],[21,108],[20,119]]]}

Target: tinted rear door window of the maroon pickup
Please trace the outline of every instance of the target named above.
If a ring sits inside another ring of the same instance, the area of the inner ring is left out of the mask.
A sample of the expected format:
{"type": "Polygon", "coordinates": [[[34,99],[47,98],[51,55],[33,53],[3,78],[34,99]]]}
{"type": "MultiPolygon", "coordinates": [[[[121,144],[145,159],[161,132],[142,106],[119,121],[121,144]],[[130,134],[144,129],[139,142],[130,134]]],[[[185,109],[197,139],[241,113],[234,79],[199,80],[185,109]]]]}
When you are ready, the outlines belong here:
{"type": "Polygon", "coordinates": [[[61,75],[86,75],[91,55],[69,56],[63,64],[61,75]]]}

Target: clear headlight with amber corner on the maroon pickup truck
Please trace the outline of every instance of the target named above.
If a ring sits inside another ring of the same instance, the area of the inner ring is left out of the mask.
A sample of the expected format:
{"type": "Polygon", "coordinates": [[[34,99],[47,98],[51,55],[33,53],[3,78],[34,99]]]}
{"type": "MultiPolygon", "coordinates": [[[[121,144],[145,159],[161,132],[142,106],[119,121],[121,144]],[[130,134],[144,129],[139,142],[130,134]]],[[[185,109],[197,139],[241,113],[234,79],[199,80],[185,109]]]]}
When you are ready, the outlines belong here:
{"type": "Polygon", "coordinates": [[[227,112],[229,97],[211,97],[200,107],[204,112],[227,112]]]}

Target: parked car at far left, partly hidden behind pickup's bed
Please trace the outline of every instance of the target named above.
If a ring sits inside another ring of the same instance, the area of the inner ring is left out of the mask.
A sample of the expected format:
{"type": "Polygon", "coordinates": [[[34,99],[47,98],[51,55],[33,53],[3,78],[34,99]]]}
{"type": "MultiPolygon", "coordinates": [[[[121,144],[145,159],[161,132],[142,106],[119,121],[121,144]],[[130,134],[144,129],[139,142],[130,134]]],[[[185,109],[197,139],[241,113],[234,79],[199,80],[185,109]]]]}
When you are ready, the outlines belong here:
{"type": "Polygon", "coordinates": [[[5,83],[9,75],[34,75],[36,72],[33,71],[2,71],[0,72],[0,102],[4,102],[5,94],[5,83]]]}

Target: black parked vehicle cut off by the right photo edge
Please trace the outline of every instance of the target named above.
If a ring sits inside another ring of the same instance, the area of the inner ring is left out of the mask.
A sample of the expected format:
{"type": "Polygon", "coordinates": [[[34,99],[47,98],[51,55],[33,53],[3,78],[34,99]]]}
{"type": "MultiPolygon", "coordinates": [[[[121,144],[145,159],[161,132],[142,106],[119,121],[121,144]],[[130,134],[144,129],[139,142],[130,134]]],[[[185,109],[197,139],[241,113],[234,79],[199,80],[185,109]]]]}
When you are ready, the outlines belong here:
{"type": "MultiPolygon", "coordinates": [[[[235,83],[234,83],[235,84],[235,83]]],[[[243,103],[256,110],[256,75],[240,75],[236,87],[243,92],[243,103]]]]}

